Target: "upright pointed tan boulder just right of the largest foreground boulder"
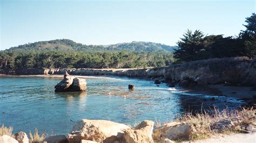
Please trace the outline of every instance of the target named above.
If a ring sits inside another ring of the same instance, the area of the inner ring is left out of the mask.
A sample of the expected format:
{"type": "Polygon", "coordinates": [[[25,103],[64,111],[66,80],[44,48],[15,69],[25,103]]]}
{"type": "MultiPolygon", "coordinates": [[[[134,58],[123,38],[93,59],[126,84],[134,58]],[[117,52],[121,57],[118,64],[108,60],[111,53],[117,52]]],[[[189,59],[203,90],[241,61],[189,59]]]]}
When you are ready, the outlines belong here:
{"type": "Polygon", "coordinates": [[[129,128],[124,132],[125,142],[153,142],[152,132],[153,132],[154,122],[151,120],[144,120],[142,123],[136,127],[129,128]]]}

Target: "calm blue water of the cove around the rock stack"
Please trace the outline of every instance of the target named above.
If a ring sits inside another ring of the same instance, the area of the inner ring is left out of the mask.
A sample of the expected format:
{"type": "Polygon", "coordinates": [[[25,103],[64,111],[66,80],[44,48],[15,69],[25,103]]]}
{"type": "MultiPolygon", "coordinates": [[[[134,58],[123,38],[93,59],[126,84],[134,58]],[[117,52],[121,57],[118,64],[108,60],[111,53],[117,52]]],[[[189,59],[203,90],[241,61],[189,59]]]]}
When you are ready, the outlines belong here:
{"type": "Polygon", "coordinates": [[[85,77],[86,92],[56,93],[60,77],[0,77],[0,124],[14,133],[38,128],[51,134],[67,134],[74,121],[105,119],[135,124],[145,119],[168,121],[184,111],[200,111],[216,105],[237,108],[242,101],[231,97],[188,95],[165,84],[125,77],[85,77]],[[128,84],[136,85],[134,91],[128,84]]]}

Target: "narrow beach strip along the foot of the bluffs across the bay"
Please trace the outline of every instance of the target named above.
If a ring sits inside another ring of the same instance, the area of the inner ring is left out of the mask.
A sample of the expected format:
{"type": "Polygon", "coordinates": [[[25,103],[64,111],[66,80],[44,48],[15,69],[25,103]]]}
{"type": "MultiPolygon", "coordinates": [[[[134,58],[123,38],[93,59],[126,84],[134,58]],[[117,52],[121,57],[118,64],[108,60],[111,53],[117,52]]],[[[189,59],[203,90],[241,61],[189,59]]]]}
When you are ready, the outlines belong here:
{"type": "MultiPolygon", "coordinates": [[[[163,81],[162,78],[147,78],[147,77],[136,77],[136,76],[120,76],[120,75],[70,75],[75,76],[79,78],[115,78],[115,77],[127,77],[127,78],[137,78],[137,79],[143,79],[147,81],[154,80],[160,80],[161,84],[166,84],[168,86],[168,83],[163,81]]],[[[56,78],[63,78],[63,75],[4,75],[0,74],[0,77],[56,77],[56,78]]],[[[156,84],[160,85],[160,84],[156,84]]],[[[198,85],[194,87],[179,87],[176,85],[175,87],[178,89],[179,92],[186,93],[186,94],[198,94],[198,95],[209,95],[209,96],[227,96],[227,97],[233,97],[238,98],[242,101],[244,101],[248,106],[254,106],[255,103],[255,95],[256,90],[253,90],[253,87],[245,87],[245,86],[226,86],[225,84],[214,84],[214,85],[207,85],[205,87],[200,87],[198,85]]]]}

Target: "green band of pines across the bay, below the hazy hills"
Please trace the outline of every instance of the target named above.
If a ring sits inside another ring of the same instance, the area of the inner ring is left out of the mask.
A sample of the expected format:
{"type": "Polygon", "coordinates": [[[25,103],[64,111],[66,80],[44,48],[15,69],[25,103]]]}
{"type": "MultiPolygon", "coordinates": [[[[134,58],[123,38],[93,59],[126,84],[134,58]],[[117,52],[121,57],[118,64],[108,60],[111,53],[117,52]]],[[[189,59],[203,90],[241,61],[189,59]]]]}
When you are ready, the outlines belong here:
{"type": "Polygon", "coordinates": [[[0,52],[2,69],[23,68],[143,68],[173,62],[167,52],[0,52]]]}

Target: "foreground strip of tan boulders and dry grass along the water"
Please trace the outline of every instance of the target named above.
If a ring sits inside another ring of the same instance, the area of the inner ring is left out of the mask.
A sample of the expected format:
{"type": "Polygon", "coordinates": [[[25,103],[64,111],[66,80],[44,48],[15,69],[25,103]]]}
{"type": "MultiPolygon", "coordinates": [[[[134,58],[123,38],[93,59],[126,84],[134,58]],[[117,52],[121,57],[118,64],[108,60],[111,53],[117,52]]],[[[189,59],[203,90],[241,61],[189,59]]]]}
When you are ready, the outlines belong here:
{"type": "Polygon", "coordinates": [[[72,127],[71,132],[66,136],[51,135],[45,138],[44,135],[40,136],[38,133],[32,135],[30,133],[30,139],[24,132],[16,134],[3,132],[10,128],[2,126],[0,142],[191,142],[210,138],[212,134],[225,134],[228,132],[254,133],[256,132],[255,115],[256,110],[254,109],[241,109],[231,112],[215,112],[213,115],[208,113],[195,116],[185,115],[181,120],[163,124],[155,124],[154,121],[143,120],[133,127],[109,120],[82,119],[72,127]]]}

